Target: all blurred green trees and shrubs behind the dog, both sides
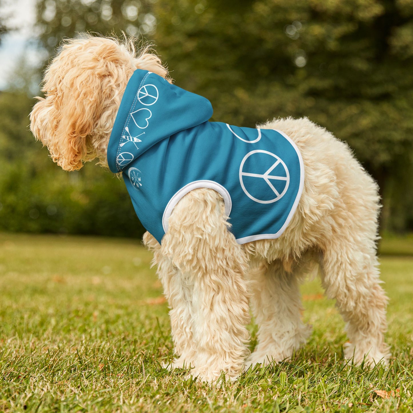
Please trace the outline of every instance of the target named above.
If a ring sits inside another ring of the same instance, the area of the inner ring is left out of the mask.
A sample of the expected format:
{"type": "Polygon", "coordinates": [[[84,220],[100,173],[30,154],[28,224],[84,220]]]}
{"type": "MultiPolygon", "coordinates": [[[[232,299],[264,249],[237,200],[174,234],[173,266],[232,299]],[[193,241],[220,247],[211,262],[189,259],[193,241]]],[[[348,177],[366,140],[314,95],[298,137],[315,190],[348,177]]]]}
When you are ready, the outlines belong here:
{"type": "MultiPolygon", "coordinates": [[[[213,120],[308,116],[332,131],[379,183],[382,230],[413,230],[413,1],[38,2],[47,56],[76,32],[122,30],[152,41],[213,120]]],[[[63,172],[34,142],[33,103],[27,87],[0,95],[0,228],[140,235],[121,181],[94,165],[63,172]]]]}

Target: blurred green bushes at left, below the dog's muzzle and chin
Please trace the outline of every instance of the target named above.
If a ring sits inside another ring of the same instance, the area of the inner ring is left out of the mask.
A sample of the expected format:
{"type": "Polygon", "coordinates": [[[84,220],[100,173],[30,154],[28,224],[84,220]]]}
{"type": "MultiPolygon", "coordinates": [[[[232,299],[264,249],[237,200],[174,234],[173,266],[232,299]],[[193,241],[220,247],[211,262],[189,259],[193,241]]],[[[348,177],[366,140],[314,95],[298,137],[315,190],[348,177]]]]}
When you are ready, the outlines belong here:
{"type": "Polygon", "coordinates": [[[31,103],[23,93],[0,94],[0,230],[140,237],[121,180],[92,164],[64,172],[34,141],[31,103]]]}

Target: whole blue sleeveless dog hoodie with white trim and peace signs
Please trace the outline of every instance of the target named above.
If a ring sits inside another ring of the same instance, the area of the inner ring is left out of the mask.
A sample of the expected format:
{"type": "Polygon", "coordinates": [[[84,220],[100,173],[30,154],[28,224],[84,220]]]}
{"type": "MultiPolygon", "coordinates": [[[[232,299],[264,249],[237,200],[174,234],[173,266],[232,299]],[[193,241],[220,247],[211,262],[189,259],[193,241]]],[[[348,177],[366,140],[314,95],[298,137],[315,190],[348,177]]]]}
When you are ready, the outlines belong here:
{"type": "Polygon", "coordinates": [[[212,112],[206,98],[136,70],[110,136],[110,170],[122,172],[140,222],[159,243],[173,208],[195,188],[222,195],[239,244],[279,237],[304,185],[297,146],[280,131],[210,122],[212,112]]]}

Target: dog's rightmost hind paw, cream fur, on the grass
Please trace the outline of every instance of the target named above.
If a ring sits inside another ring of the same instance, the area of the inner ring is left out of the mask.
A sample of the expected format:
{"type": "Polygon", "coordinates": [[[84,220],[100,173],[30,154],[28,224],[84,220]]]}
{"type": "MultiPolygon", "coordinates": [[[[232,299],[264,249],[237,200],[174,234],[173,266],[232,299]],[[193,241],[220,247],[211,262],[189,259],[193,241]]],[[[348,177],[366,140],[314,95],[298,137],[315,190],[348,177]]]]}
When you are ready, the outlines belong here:
{"type": "Polygon", "coordinates": [[[376,364],[387,366],[390,356],[387,344],[383,344],[380,348],[366,345],[355,346],[353,343],[344,344],[344,358],[356,366],[360,366],[363,362],[365,366],[375,366],[376,364]]]}

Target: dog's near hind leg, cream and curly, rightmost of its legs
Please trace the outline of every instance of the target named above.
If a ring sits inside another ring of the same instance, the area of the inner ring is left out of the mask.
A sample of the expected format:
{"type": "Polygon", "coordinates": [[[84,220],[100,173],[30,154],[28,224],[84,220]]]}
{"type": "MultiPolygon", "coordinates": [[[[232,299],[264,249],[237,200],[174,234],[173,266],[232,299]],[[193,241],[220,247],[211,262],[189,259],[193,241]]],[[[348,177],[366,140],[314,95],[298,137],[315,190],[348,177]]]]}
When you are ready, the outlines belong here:
{"type": "Polygon", "coordinates": [[[350,343],[344,350],[354,363],[387,363],[389,349],[384,342],[387,297],[380,286],[373,240],[340,237],[329,242],[323,254],[322,282],[329,298],[347,323],[350,343]]]}

